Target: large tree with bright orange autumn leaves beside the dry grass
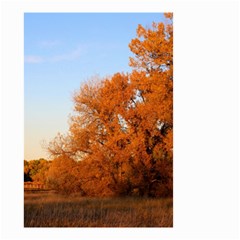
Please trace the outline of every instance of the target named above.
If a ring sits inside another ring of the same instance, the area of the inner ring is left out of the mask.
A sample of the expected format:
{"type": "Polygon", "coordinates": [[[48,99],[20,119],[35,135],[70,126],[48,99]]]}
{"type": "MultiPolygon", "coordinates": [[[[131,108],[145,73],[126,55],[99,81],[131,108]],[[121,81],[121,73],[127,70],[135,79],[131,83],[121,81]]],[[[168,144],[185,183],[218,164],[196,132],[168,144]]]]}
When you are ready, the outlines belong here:
{"type": "Polygon", "coordinates": [[[86,194],[172,195],[173,28],[172,14],[165,16],[152,28],[138,26],[132,73],[75,93],[69,133],[49,144],[53,156],[81,161],[86,194]]]}

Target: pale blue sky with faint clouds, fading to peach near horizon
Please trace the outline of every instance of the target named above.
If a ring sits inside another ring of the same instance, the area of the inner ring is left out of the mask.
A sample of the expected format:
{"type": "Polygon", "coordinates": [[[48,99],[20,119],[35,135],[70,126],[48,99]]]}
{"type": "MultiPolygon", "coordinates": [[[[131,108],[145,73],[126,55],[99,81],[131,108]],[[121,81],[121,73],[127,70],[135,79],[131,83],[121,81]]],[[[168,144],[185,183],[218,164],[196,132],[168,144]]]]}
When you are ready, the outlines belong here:
{"type": "Polygon", "coordinates": [[[94,76],[130,72],[138,24],[162,13],[24,14],[24,159],[48,159],[42,143],[66,133],[73,93],[94,76]]]}

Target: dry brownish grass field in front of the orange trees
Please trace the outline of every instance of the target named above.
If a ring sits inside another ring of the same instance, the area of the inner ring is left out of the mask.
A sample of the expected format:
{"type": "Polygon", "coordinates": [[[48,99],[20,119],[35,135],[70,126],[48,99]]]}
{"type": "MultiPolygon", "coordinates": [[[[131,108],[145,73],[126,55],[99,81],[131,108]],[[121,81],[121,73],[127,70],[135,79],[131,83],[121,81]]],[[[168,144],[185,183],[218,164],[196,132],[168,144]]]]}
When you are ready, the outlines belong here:
{"type": "Polygon", "coordinates": [[[25,227],[172,227],[173,200],[24,193],[25,227]]]}

